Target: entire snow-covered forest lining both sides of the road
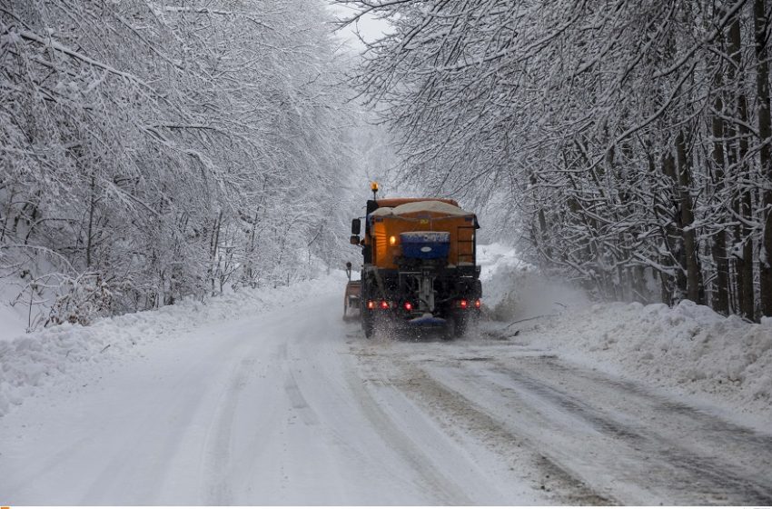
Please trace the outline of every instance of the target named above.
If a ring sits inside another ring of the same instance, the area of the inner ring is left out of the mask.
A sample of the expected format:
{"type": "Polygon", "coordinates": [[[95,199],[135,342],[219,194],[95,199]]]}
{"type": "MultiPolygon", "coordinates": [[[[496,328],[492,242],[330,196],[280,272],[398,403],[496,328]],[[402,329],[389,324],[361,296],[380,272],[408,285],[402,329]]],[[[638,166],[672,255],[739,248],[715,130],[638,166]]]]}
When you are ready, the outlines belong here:
{"type": "Polygon", "coordinates": [[[772,316],[772,2],[331,2],[389,29],[351,58],[321,2],[0,3],[0,277],[30,328],[339,264],[352,180],[391,166],[368,115],[393,181],[549,274],[772,316]]]}

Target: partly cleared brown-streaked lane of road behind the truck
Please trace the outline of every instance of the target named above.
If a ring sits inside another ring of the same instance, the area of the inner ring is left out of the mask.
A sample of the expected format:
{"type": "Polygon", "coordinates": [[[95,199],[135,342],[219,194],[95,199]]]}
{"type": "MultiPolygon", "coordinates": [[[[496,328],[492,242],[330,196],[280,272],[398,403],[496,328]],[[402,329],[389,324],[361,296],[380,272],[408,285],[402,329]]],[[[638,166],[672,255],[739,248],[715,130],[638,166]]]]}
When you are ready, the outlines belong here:
{"type": "Polygon", "coordinates": [[[628,392],[609,386],[608,380],[579,383],[576,372],[572,366],[532,356],[506,361],[449,358],[432,364],[428,371],[451,390],[466,397],[474,394],[474,401],[481,402],[486,414],[506,422],[508,429],[524,432],[537,450],[555,463],[603,493],[621,496],[625,504],[631,499],[638,504],[660,499],[666,504],[772,501],[772,479],[764,474],[769,469],[763,466],[772,453],[761,453],[768,448],[759,449],[767,444],[767,436],[647,394],[640,387],[628,392]],[[470,360],[483,362],[472,367],[470,360]],[[547,374],[546,365],[555,373],[547,374]],[[599,393],[608,394],[603,399],[599,393]],[[613,407],[613,411],[604,406],[613,407]],[[672,407],[669,411],[668,406],[672,407]],[[648,408],[658,408],[654,425],[646,420],[649,412],[641,412],[648,408]],[[703,426],[679,424],[685,435],[670,434],[665,427],[677,418],[703,426]],[[721,431],[725,427],[728,433],[721,431]],[[696,444],[700,444],[702,428],[708,435],[700,449],[696,444]],[[734,433],[737,431],[742,433],[734,433]],[[723,440],[716,440],[717,436],[723,440]],[[577,437],[583,443],[578,444],[577,437]],[[718,454],[706,453],[713,444],[721,449],[718,454]],[[746,468],[743,461],[719,457],[736,454],[735,450],[723,450],[722,444],[742,444],[738,449],[751,454],[745,457],[756,469],[746,468]]]}

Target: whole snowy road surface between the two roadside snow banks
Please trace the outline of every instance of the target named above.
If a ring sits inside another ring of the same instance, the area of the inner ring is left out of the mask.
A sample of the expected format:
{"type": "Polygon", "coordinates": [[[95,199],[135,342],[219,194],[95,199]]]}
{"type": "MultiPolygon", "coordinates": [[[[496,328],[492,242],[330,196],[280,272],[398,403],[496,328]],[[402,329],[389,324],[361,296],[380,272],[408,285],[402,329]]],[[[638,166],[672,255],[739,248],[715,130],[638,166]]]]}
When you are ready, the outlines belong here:
{"type": "Polygon", "coordinates": [[[491,336],[368,342],[339,300],[30,398],[0,419],[3,502],[772,504],[770,435],[491,336]]]}

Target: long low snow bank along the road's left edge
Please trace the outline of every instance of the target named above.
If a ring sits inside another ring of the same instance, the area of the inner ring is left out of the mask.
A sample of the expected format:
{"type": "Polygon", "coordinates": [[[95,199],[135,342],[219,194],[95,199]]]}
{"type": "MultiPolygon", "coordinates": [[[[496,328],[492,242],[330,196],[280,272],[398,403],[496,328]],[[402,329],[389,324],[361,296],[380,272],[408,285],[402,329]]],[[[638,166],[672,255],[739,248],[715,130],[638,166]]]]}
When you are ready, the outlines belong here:
{"type": "Polygon", "coordinates": [[[206,304],[193,299],[154,311],[105,318],[89,326],[63,324],[0,342],[0,415],[61,374],[120,359],[137,344],[246,314],[263,313],[310,296],[342,292],[342,272],[321,279],[224,294],[206,304]]]}

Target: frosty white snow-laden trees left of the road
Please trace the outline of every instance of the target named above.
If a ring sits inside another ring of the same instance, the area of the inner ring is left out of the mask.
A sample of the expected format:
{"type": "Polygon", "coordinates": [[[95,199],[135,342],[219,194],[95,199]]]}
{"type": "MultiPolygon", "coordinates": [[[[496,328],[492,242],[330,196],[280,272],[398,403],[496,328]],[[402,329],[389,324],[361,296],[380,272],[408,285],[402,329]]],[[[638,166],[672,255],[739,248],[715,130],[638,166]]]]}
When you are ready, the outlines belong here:
{"type": "Polygon", "coordinates": [[[30,328],[338,262],[360,113],[330,20],[305,0],[0,3],[0,276],[30,328]]]}

